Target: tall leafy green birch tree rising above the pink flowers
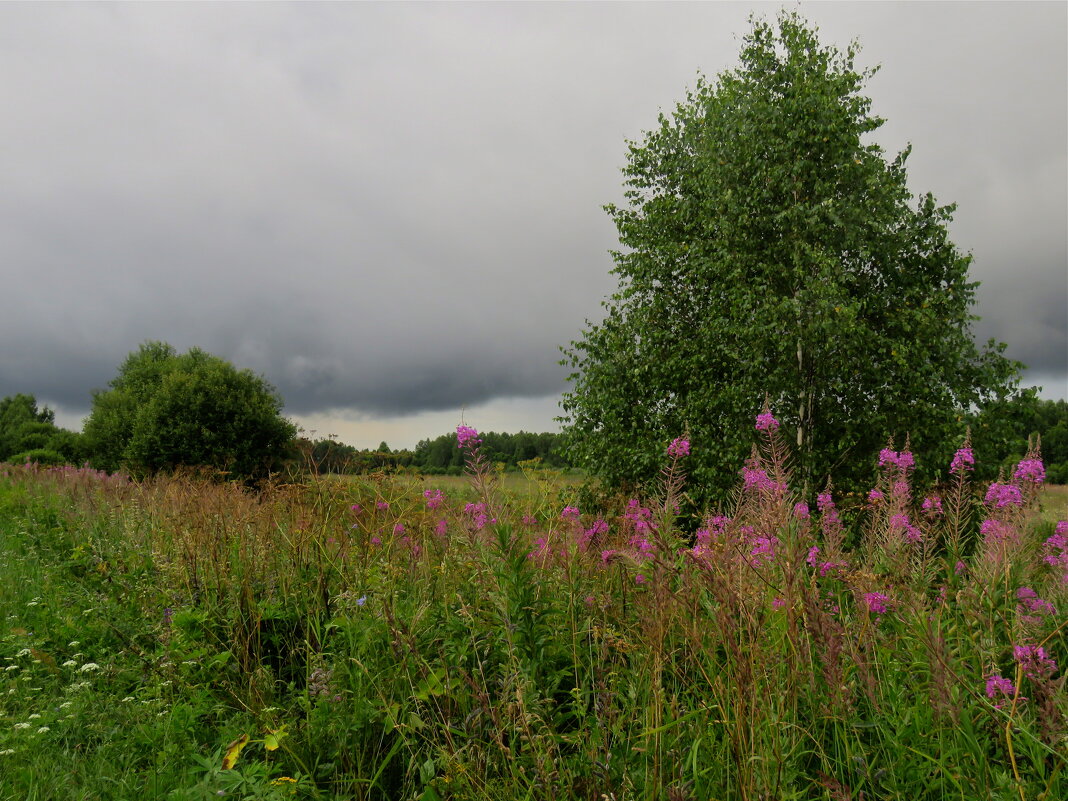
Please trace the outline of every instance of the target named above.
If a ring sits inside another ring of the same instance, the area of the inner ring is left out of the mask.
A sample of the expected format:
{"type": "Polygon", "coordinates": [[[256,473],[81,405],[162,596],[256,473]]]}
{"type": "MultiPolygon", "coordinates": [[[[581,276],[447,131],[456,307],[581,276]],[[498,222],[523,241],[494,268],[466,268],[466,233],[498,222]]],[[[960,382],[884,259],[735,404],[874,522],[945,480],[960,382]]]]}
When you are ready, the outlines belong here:
{"type": "Polygon", "coordinates": [[[695,486],[725,488],[767,398],[811,487],[841,487],[906,436],[941,465],[973,406],[1019,366],[976,347],[971,261],[953,206],[884,157],[857,46],[822,46],[792,13],[754,21],[740,67],[704,78],[629,143],[607,314],[564,349],[571,453],[613,484],[693,440],[695,486]]]}

